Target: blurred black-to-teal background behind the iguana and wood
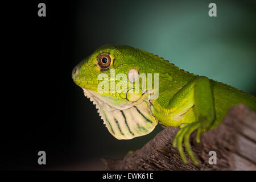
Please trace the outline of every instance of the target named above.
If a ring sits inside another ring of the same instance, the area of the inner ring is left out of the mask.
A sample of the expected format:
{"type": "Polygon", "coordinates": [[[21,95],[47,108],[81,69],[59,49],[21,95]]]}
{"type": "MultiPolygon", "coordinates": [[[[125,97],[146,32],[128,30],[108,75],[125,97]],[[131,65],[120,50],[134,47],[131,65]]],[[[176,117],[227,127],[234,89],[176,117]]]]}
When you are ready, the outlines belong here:
{"type": "Polygon", "coordinates": [[[186,71],[256,94],[255,1],[31,1],[2,6],[1,169],[103,169],[162,128],[117,140],[71,78],[104,44],[155,53],[186,71]],[[38,4],[46,3],[46,17],[38,4]],[[5,101],[3,101],[5,100],[5,101]],[[39,166],[38,151],[47,165],[39,166]]]}

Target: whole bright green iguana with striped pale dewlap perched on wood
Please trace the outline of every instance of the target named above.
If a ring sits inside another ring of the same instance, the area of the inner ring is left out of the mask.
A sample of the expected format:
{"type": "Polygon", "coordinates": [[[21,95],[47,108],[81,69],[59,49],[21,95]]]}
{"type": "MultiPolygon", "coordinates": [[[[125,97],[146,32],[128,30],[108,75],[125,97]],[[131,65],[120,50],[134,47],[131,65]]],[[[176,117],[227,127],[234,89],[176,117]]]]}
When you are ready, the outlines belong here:
{"type": "Polygon", "coordinates": [[[197,130],[196,140],[200,142],[200,134],[220,124],[231,106],[243,103],[256,110],[256,98],[250,94],[185,72],[162,57],[129,46],[100,47],[73,69],[72,78],[96,105],[104,124],[117,139],[146,135],[158,122],[163,126],[181,127],[173,146],[179,150],[184,163],[187,158],[183,143],[193,162],[198,163],[189,145],[193,131],[197,130]],[[113,70],[115,76],[124,73],[126,79],[111,76],[113,70]],[[98,84],[103,80],[98,80],[100,73],[106,74],[109,85],[126,82],[127,88],[111,90],[109,86],[109,92],[100,92],[98,84]],[[128,73],[158,73],[158,91],[154,79],[152,89],[145,89],[142,82],[139,86],[129,86],[128,83],[134,81],[128,73]],[[139,92],[130,92],[133,90],[139,92]],[[156,92],[157,98],[148,97],[156,92]]]}

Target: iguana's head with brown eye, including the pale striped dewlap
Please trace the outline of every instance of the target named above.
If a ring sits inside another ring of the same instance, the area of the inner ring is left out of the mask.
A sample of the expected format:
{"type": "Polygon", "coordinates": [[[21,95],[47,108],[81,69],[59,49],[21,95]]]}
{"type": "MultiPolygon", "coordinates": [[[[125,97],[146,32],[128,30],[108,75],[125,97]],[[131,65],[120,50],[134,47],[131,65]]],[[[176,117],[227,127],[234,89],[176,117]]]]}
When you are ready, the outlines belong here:
{"type": "Polygon", "coordinates": [[[157,124],[149,102],[156,92],[154,80],[152,88],[146,86],[147,61],[147,53],[140,49],[104,46],[73,68],[73,81],[96,105],[104,124],[117,139],[146,135],[157,124]]]}

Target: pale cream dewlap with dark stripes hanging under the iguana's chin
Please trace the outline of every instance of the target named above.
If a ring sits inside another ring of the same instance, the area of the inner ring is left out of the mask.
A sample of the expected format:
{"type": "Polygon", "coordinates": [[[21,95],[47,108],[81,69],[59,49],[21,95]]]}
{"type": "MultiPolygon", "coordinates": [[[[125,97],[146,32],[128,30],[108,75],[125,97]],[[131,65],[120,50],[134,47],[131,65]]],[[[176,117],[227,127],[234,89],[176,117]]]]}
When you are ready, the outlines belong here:
{"type": "Polygon", "coordinates": [[[117,139],[132,139],[146,135],[154,130],[158,123],[151,112],[151,104],[148,100],[125,101],[123,104],[113,106],[105,100],[105,96],[92,90],[82,89],[85,96],[96,105],[104,125],[117,139]]]}

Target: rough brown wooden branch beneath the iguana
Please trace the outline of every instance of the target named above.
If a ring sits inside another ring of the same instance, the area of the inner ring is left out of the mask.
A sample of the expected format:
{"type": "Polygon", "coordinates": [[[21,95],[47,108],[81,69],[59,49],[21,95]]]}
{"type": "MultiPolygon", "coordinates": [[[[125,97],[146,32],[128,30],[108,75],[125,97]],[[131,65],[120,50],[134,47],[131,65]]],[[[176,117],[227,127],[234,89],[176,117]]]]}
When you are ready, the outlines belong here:
{"type": "Polygon", "coordinates": [[[103,159],[107,170],[256,170],[256,113],[245,105],[233,106],[216,129],[191,135],[191,147],[200,164],[184,164],[172,147],[179,128],[167,127],[133,154],[121,160],[103,159]],[[216,151],[217,164],[209,164],[209,151],[216,151]]]}

